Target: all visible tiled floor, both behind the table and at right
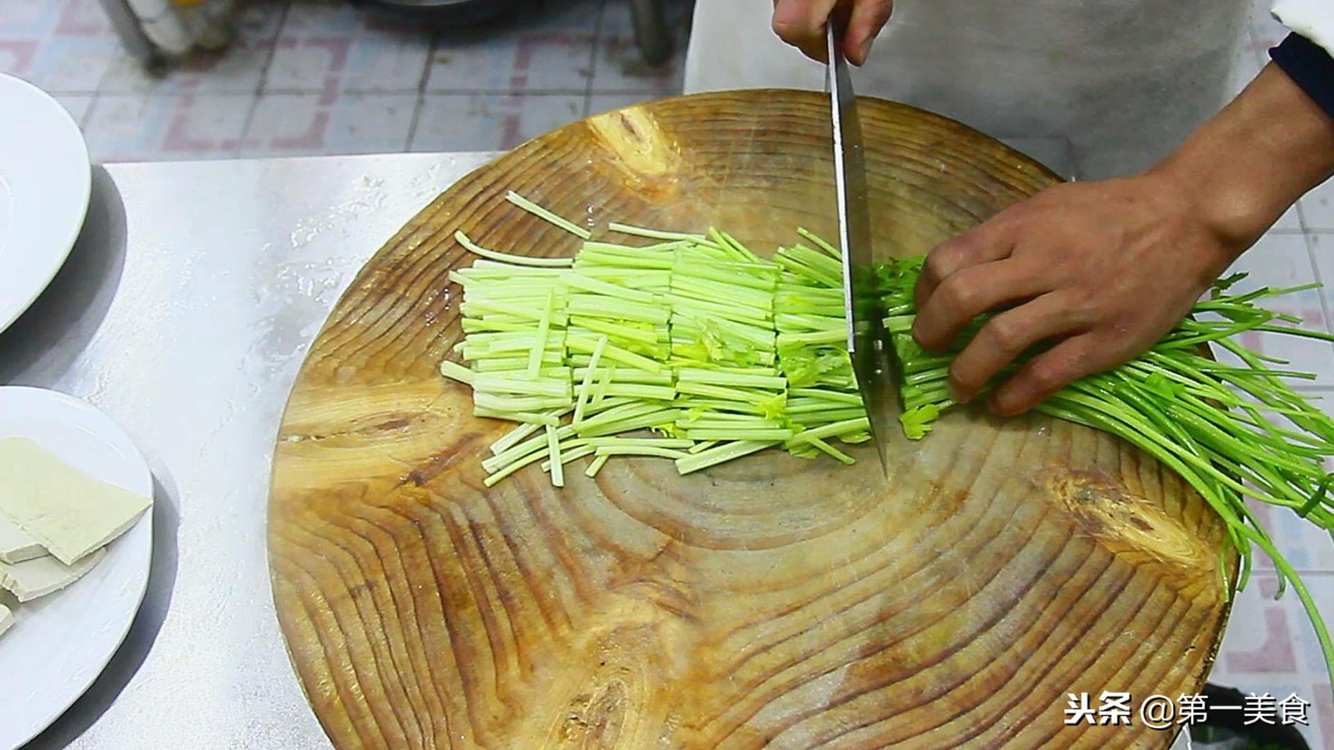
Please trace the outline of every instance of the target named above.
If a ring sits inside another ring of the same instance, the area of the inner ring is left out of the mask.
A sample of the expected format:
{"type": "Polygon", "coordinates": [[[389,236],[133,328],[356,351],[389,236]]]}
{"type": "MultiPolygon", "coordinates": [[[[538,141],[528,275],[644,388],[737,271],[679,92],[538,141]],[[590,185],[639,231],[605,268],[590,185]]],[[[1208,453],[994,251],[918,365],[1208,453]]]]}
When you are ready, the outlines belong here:
{"type": "MultiPolygon", "coordinates": [[[[676,56],[651,69],[639,61],[624,0],[547,0],[522,28],[467,35],[386,24],[343,0],[243,0],[229,51],[151,75],[119,48],[96,0],[3,0],[0,71],[53,92],[103,161],[503,149],[594,112],[679,92],[688,5],[672,5],[676,56]]],[[[1234,88],[1259,71],[1282,33],[1257,11],[1234,88]]],[[[1238,267],[1273,286],[1334,282],[1334,183],[1289,211],[1238,267]]],[[[1327,291],[1277,307],[1334,331],[1327,291]]],[[[1315,372],[1303,388],[1334,412],[1334,346],[1273,335],[1247,343],[1315,372]]],[[[1295,518],[1259,512],[1334,617],[1334,544],[1295,518]]],[[[1271,599],[1271,565],[1258,567],[1214,681],[1305,697],[1315,705],[1313,746],[1334,747],[1334,695],[1314,631],[1291,593],[1271,599]]]]}

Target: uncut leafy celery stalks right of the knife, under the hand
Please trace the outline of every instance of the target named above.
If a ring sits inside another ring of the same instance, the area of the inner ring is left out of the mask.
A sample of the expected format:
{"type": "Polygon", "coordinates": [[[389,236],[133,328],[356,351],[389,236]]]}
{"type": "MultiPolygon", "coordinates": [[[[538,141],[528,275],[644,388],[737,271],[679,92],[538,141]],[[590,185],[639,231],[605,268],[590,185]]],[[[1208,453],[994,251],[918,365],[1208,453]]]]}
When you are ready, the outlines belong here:
{"type": "MultiPolygon", "coordinates": [[[[884,327],[903,371],[900,420],[912,439],[923,438],[943,411],[956,406],[947,392],[950,363],[988,318],[974,320],[950,352],[923,351],[911,334],[916,316],[914,287],[922,260],[898,260],[879,274],[884,327]]],[[[1234,339],[1245,331],[1323,342],[1334,336],[1293,327],[1301,319],[1257,304],[1318,284],[1229,294],[1243,278],[1245,274],[1238,274],[1221,279],[1210,298],[1195,304],[1191,316],[1153,348],[1126,364],[1074,382],[1037,410],[1117,435],[1179,474],[1227,524],[1227,543],[1242,559],[1238,590],[1250,578],[1253,546],[1274,560],[1278,595],[1289,585],[1297,591],[1334,679],[1334,643],[1315,601],[1247,504],[1249,498],[1278,506],[1334,538],[1334,498],[1329,495],[1334,475],[1326,470],[1334,456],[1334,419],[1286,382],[1310,380],[1315,378],[1313,374],[1285,370],[1286,362],[1247,350],[1234,339]],[[1205,356],[1203,344],[1221,347],[1237,363],[1205,356]]],[[[1033,354],[1037,352],[1019,358],[996,382],[1033,354]]],[[[1218,552],[1218,571],[1230,595],[1225,548],[1218,552]]]]}

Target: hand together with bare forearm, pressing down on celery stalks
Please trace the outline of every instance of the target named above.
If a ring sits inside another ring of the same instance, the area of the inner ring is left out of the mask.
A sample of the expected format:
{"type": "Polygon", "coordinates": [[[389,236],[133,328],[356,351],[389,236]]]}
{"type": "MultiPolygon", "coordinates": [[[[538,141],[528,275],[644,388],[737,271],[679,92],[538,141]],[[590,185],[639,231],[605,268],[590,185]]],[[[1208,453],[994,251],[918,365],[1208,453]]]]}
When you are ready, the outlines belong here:
{"type": "Polygon", "coordinates": [[[1149,172],[1053,187],[932,250],[912,335],[940,351],[995,312],[950,367],[960,402],[1049,346],[988,396],[994,412],[1019,414],[1157,343],[1331,173],[1334,119],[1270,64],[1149,172]]]}

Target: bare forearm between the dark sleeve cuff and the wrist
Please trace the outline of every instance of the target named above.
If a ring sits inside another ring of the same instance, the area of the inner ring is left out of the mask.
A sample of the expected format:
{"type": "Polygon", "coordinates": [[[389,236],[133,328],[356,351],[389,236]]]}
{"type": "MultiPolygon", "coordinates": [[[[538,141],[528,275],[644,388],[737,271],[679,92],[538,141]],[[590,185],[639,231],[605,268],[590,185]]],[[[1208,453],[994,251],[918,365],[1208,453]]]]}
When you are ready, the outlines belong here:
{"type": "Polygon", "coordinates": [[[1270,64],[1150,175],[1191,196],[1201,218],[1241,254],[1334,175],[1334,119],[1270,64]]]}

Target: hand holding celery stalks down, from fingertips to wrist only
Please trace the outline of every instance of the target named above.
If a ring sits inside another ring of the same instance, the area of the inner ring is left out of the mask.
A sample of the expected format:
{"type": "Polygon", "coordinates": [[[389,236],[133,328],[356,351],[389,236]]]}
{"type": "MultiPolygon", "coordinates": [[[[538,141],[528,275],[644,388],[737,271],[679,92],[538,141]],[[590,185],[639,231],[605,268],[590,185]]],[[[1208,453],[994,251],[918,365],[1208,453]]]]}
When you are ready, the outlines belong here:
{"type": "Polygon", "coordinates": [[[959,402],[1054,343],[991,392],[992,411],[1018,414],[1153,346],[1239,252],[1159,175],[1058,185],[931,251],[912,335],[942,351],[1000,310],[950,366],[959,402]]]}

